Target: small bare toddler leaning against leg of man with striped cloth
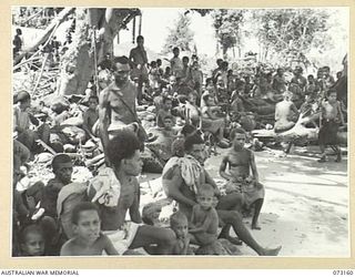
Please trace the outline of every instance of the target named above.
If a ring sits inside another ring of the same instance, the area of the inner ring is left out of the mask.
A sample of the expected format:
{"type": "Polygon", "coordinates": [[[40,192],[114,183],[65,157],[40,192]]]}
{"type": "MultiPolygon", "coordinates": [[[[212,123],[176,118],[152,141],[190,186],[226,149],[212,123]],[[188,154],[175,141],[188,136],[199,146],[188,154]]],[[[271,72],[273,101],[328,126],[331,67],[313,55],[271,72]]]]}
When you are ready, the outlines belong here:
{"type": "Polygon", "coordinates": [[[217,239],[219,215],[214,208],[213,187],[201,185],[196,198],[199,204],[193,206],[189,233],[192,235],[191,242],[205,246],[217,239]]]}

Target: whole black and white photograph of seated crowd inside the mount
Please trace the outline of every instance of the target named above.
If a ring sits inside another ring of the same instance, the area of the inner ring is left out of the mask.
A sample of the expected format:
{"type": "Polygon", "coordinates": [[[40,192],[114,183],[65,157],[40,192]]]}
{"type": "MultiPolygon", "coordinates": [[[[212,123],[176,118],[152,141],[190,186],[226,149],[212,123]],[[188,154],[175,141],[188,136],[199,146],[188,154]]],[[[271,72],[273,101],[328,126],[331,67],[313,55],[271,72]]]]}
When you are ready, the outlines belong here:
{"type": "Polygon", "coordinates": [[[351,258],[348,7],[12,6],[11,45],[11,258],[351,258]]]}

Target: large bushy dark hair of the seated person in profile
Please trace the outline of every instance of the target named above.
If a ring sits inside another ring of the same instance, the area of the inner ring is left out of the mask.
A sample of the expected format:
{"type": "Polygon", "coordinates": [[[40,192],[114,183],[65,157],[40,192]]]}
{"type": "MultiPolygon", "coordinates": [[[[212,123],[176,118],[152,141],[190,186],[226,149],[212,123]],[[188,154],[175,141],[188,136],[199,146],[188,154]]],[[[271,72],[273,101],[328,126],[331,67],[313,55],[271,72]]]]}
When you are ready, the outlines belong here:
{"type": "Polygon", "coordinates": [[[140,150],[140,141],[131,130],[120,130],[116,135],[109,141],[108,158],[112,165],[120,165],[123,158],[130,158],[136,150],[140,150]]]}

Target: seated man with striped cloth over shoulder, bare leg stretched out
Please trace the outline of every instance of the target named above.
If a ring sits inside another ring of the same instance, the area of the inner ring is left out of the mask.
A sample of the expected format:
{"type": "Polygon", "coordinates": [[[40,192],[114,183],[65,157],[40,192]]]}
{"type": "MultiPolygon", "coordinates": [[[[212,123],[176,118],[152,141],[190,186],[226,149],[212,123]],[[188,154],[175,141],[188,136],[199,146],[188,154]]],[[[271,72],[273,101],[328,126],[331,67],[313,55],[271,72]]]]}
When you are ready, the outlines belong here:
{"type": "Polygon", "coordinates": [[[273,249],[262,247],[243,224],[242,216],[236,211],[242,201],[241,197],[236,194],[220,195],[215,182],[203,167],[206,155],[202,137],[196,133],[192,134],[185,138],[184,146],[186,155],[182,158],[172,157],[164,167],[162,182],[166,196],[176,201],[179,209],[187,218],[191,218],[192,208],[197,204],[196,186],[210,184],[215,191],[215,196],[219,197],[215,208],[219,214],[220,224],[224,225],[220,237],[233,242],[233,238],[229,235],[230,227],[233,226],[235,234],[258,255],[276,256],[281,246],[273,249]]]}

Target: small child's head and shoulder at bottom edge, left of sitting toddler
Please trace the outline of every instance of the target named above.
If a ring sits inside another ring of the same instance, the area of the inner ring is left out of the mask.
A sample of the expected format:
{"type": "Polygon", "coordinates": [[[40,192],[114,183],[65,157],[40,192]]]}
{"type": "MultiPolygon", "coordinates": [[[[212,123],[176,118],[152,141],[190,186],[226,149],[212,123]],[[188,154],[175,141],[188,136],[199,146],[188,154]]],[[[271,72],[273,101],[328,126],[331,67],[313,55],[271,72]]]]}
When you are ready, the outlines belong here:
{"type": "Polygon", "coordinates": [[[182,212],[175,212],[170,216],[170,228],[176,235],[173,255],[186,255],[190,245],[187,217],[182,212]]]}

